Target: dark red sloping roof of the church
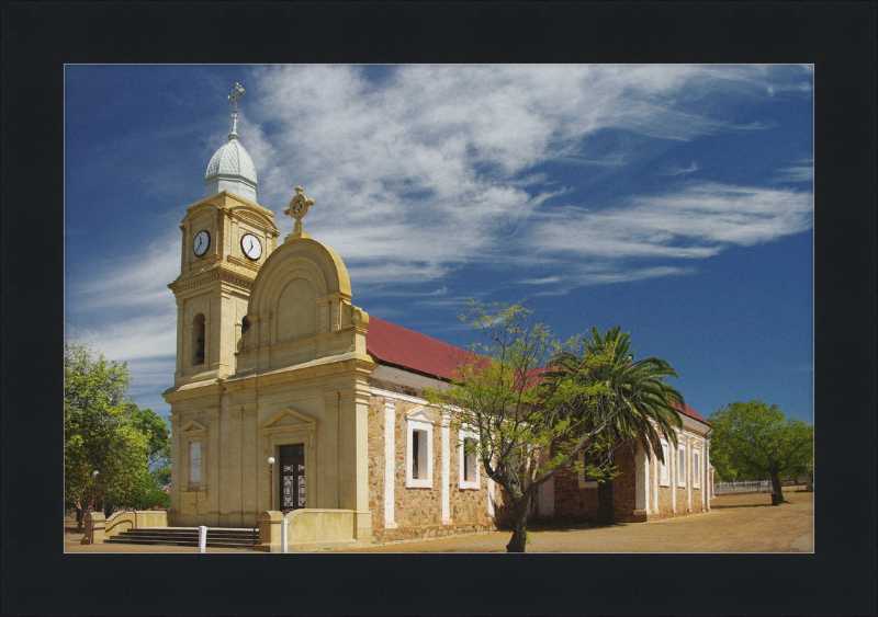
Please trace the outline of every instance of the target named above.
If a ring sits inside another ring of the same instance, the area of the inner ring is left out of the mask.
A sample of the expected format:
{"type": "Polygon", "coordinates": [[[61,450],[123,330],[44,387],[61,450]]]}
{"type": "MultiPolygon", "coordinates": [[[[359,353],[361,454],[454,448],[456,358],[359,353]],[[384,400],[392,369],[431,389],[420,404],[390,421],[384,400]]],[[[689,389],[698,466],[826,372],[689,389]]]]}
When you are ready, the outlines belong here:
{"type": "MultiPolygon", "coordinates": [[[[369,316],[365,351],[379,364],[441,379],[453,379],[458,365],[463,365],[465,358],[473,355],[470,351],[372,316],[369,316]]],[[[710,424],[688,404],[674,407],[689,418],[710,424]]]]}

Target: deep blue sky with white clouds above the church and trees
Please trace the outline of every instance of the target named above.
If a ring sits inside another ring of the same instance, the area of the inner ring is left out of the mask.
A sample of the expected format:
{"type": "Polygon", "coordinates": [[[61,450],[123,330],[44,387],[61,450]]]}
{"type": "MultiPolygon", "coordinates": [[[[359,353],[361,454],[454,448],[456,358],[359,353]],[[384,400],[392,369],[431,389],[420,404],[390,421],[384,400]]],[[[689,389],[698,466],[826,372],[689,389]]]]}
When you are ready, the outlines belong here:
{"type": "Polygon", "coordinates": [[[566,339],[632,330],[705,416],[813,419],[810,66],[65,69],[65,318],[167,415],[180,220],[238,134],[259,203],[335,249],[353,302],[465,346],[474,297],[566,339]]]}

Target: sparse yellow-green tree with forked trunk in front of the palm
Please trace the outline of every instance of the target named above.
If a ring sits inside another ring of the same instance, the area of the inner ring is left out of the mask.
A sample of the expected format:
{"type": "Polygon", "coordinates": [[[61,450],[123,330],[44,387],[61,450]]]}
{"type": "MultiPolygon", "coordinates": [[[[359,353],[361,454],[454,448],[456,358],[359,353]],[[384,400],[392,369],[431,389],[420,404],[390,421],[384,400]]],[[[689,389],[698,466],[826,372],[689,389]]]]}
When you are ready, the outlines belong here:
{"type": "MultiPolygon", "coordinates": [[[[577,401],[603,386],[545,379],[551,373],[545,363],[561,345],[524,302],[485,306],[470,300],[468,305],[469,316],[460,319],[486,342],[474,344],[465,357],[454,357],[459,377],[447,388],[428,389],[425,395],[449,412],[452,427],[477,434],[464,445],[464,455],[475,455],[487,477],[506,491],[513,511],[513,537],[506,550],[524,552],[528,505],[537,489],[562,469],[583,470],[576,454],[590,452],[606,427],[576,413],[577,401]]],[[[598,477],[608,472],[595,466],[588,471],[598,477]]]]}

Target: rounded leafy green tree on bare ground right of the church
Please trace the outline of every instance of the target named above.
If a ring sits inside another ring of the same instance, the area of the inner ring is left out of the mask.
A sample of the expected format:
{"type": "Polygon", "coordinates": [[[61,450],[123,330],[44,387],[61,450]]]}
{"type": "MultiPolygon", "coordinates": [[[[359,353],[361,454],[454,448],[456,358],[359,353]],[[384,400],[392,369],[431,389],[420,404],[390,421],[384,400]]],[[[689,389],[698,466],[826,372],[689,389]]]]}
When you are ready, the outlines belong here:
{"type": "Polygon", "coordinates": [[[733,402],[709,420],[711,458],[728,460],[744,473],[767,475],[780,502],[785,475],[813,461],[814,427],[786,418],[776,404],[733,402]]]}

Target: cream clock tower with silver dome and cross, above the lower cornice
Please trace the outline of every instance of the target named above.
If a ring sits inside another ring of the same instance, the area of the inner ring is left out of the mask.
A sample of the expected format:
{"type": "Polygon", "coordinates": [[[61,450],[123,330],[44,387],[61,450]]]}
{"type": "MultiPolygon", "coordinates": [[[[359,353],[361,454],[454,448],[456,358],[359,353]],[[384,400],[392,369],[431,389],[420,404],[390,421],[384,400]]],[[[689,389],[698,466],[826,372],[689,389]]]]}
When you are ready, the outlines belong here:
{"type": "Polygon", "coordinates": [[[177,298],[176,387],[235,373],[250,289],[280,235],[274,214],[256,203],[256,168],[238,139],[241,94],[236,83],[228,142],[207,164],[205,198],[180,226],[180,276],[168,285],[177,298]]]}

